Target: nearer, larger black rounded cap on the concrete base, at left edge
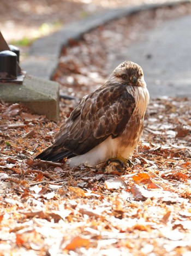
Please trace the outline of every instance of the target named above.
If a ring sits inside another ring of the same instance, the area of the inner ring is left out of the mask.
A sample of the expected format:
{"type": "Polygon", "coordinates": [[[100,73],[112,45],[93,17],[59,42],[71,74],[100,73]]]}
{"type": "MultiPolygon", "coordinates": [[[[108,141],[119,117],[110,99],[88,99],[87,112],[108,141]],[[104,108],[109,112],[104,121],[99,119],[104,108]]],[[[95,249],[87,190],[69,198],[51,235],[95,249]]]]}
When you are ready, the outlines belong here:
{"type": "Polygon", "coordinates": [[[10,50],[0,52],[0,79],[17,78],[17,55],[10,50]]]}

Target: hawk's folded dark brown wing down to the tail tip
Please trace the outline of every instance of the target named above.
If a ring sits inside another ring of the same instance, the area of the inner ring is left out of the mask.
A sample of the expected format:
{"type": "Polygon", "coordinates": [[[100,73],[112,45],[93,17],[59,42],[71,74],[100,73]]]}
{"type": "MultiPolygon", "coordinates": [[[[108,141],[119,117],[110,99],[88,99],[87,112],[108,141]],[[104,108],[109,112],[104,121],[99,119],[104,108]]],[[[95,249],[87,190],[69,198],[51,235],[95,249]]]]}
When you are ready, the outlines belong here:
{"type": "Polygon", "coordinates": [[[122,84],[98,88],[83,98],[61,126],[55,142],[36,158],[57,161],[83,155],[110,135],[123,133],[135,109],[135,99],[122,84]]]}

